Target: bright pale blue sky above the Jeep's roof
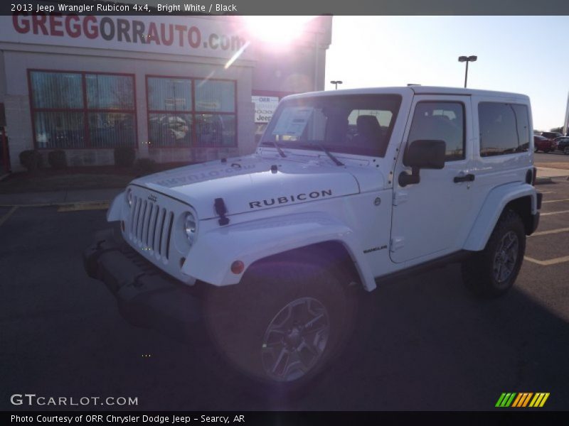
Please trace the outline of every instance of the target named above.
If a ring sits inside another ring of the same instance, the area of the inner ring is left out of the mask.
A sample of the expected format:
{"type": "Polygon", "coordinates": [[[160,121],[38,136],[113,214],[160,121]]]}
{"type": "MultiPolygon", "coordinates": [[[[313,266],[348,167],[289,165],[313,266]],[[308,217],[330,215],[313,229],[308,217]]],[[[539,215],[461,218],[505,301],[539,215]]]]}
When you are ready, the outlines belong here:
{"type": "Polygon", "coordinates": [[[563,126],[569,16],[334,16],[326,90],[422,85],[527,94],[533,128],[563,126]]]}

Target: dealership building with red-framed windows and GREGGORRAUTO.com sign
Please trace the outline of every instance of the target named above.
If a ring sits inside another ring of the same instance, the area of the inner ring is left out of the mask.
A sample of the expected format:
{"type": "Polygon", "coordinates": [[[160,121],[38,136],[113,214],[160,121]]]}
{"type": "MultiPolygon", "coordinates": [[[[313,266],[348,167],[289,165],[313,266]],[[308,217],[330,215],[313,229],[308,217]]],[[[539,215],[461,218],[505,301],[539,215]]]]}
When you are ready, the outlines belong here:
{"type": "Polygon", "coordinates": [[[30,149],[63,149],[71,166],[111,165],[122,146],[159,163],[252,153],[279,99],[324,89],[331,16],[284,44],[254,27],[243,16],[0,16],[0,172],[23,170],[30,149]]]}

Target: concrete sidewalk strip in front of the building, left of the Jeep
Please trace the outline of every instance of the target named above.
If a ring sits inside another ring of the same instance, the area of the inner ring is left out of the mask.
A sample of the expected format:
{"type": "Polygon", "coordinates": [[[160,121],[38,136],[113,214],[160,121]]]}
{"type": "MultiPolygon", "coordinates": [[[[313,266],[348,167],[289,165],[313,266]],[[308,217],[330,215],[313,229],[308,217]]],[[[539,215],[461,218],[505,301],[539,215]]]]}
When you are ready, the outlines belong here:
{"type": "Polygon", "coordinates": [[[1,206],[60,206],[80,202],[110,202],[123,189],[68,190],[52,192],[22,192],[20,194],[0,194],[1,206]]]}

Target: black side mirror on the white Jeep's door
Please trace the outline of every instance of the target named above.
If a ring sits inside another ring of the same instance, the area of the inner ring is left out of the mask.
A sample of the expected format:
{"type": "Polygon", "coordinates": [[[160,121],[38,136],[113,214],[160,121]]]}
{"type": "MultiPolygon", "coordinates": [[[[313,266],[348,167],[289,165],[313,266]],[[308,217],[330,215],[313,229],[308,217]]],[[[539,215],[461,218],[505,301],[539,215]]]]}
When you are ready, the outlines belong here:
{"type": "Polygon", "coordinates": [[[442,169],[445,167],[445,152],[447,144],[445,141],[432,139],[420,139],[413,141],[403,154],[403,165],[412,168],[412,173],[408,175],[401,172],[399,175],[399,185],[402,187],[420,182],[419,170],[442,169]]]}

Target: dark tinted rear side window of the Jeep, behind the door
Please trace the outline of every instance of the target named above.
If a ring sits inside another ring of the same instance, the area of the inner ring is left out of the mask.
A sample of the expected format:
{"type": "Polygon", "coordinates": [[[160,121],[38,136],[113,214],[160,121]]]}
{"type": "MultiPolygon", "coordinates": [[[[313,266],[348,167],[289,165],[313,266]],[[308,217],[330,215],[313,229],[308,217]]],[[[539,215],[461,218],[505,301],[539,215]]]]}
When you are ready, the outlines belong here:
{"type": "Polygon", "coordinates": [[[478,104],[480,156],[522,153],[529,149],[528,107],[521,104],[478,104]]]}

